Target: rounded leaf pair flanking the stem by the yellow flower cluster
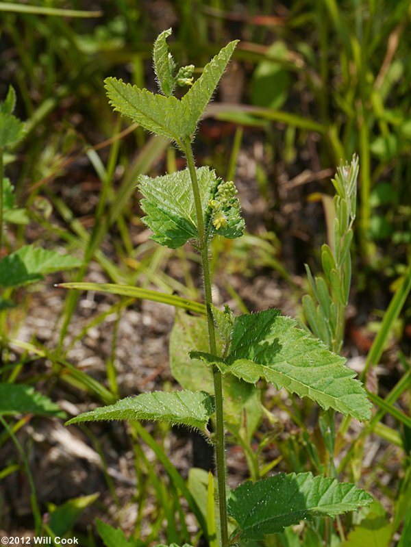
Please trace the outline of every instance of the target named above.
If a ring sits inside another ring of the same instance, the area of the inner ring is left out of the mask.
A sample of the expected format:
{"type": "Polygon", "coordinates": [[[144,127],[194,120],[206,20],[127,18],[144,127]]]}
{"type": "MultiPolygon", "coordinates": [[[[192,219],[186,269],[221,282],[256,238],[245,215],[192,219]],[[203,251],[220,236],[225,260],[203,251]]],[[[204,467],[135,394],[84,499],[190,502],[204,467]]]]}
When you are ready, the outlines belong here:
{"type": "MultiPolygon", "coordinates": [[[[219,188],[227,183],[217,178],[214,170],[208,167],[200,167],[196,172],[203,222],[206,223],[208,231],[230,239],[240,237],[244,220],[239,215],[238,200],[234,196],[229,200],[225,199],[225,203],[219,200],[219,188]],[[210,212],[210,202],[221,204],[219,213],[224,217],[224,224],[219,227],[215,225],[216,213],[210,212]]],[[[145,196],[141,207],[147,216],[142,220],[153,231],[152,239],[155,242],[177,249],[188,240],[199,237],[188,169],[155,179],[142,175],[138,186],[145,196]]]]}

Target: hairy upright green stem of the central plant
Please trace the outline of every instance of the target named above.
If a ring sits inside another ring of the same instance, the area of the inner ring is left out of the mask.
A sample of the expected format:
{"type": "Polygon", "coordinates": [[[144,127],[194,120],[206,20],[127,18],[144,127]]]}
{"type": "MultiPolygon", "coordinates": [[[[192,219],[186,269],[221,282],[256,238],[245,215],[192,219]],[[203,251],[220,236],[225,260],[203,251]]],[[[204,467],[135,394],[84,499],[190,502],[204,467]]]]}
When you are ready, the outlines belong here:
{"type": "MultiPolygon", "coordinates": [[[[207,309],[208,339],[210,343],[210,353],[216,355],[216,332],[214,327],[214,318],[212,315],[212,293],[211,293],[211,275],[210,263],[208,260],[208,238],[204,229],[203,209],[201,207],[201,196],[197,173],[195,170],[194,157],[192,155],[191,144],[189,140],[184,141],[182,146],[187,159],[187,166],[190,172],[192,183],[192,192],[194,194],[195,212],[197,216],[197,228],[199,231],[199,243],[201,252],[201,264],[203,267],[204,280],[204,303],[207,309]]],[[[221,524],[221,547],[227,547],[229,544],[227,527],[227,494],[225,485],[225,437],[224,437],[224,414],[223,414],[223,382],[219,369],[213,367],[214,397],[216,405],[216,469],[217,483],[219,485],[219,511],[221,524]]]]}

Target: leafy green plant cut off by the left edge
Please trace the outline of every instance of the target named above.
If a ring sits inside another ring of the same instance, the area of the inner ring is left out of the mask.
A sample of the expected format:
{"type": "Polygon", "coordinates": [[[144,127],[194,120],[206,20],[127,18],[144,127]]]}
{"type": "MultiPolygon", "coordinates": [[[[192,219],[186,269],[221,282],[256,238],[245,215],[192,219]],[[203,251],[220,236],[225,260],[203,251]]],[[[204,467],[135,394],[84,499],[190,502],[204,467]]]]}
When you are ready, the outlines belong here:
{"type": "MultiPolygon", "coordinates": [[[[0,257],[3,256],[3,246],[10,246],[5,236],[5,223],[26,224],[28,222],[25,209],[15,207],[14,188],[10,180],[3,174],[3,159],[7,151],[12,150],[25,135],[25,124],[12,114],[16,103],[16,94],[10,86],[5,101],[0,103],[0,257]]],[[[18,453],[23,459],[23,468],[29,477],[31,502],[36,527],[40,534],[42,522],[40,509],[36,498],[36,489],[32,473],[30,472],[24,450],[14,435],[23,427],[25,420],[19,420],[10,427],[3,416],[55,416],[64,418],[66,414],[53,403],[49,397],[34,390],[34,387],[25,383],[15,383],[21,364],[9,362],[8,352],[10,337],[8,333],[8,314],[17,306],[12,300],[13,291],[23,285],[35,283],[44,279],[44,275],[62,269],[77,268],[81,262],[71,256],[64,256],[31,245],[22,246],[17,251],[0,258],[0,421],[8,438],[14,442],[18,453]]],[[[10,323],[12,320],[10,320],[10,323]]],[[[1,470],[3,476],[14,472],[16,468],[6,465],[1,470]]]]}

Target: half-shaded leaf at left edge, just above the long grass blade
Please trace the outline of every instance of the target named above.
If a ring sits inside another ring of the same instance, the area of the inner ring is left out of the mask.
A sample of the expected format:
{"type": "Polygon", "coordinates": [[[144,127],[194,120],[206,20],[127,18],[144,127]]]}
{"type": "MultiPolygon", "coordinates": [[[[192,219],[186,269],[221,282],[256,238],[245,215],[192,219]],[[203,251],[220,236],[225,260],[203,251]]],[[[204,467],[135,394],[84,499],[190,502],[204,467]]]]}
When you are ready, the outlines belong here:
{"type": "Polygon", "coordinates": [[[43,275],[78,268],[82,262],[70,255],[60,255],[55,251],[25,245],[0,261],[0,286],[17,287],[34,283],[43,275]]]}

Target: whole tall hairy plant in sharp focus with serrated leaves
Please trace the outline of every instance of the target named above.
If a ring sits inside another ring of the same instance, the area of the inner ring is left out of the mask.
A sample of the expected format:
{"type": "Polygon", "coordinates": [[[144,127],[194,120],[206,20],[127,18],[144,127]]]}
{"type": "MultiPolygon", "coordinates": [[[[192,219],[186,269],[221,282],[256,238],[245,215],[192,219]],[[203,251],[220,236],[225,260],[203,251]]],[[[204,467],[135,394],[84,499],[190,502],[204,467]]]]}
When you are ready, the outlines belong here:
{"type": "Polygon", "coordinates": [[[170,138],[186,156],[185,170],[155,179],[140,177],[139,188],[145,196],[142,209],[147,215],[145,223],[153,231],[153,240],[171,249],[191,241],[201,254],[209,351],[193,348],[190,355],[212,370],[214,393],[182,390],[140,394],[81,414],[67,423],[164,420],[199,429],[215,447],[220,544],[227,547],[240,538],[261,539],[265,534],[283,531],[285,526],[305,518],[355,510],[371,503],[372,498],[355,485],[314,477],[311,473],[277,474],[255,483],[248,481],[227,496],[223,377],[251,384],[262,378],[277,388],[286,387],[289,392],[312,398],[325,409],[331,407],[358,420],[369,418],[370,405],[344,359],[328,351],[306,331],[297,329],[291,318],[273,309],[234,318],[229,309],[221,312],[213,307],[210,242],[214,236],[240,237],[244,222],[234,183],[219,179],[208,167],[196,168],[191,145],[201,115],[237,42],[221,49],[192,83],[192,66],[179,71],[175,67],[166,44],[170,34],[171,29],[163,31],[154,44],[154,66],[161,94],[112,77],[105,80],[105,88],[114,110],[129,116],[147,131],[170,138]],[[173,90],[180,84],[190,88],[182,99],[177,99],[173,90]],[[216,342],[216,327],[222,344],[216,342]],[[212,417],[215,433],[210,435],[207,424],[212,417]],[[236,525],[231,537],[229,516],[236,525]]]}

